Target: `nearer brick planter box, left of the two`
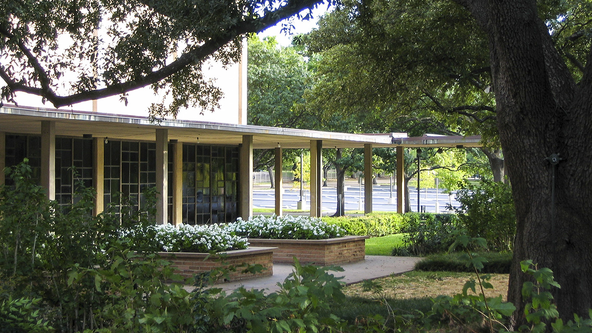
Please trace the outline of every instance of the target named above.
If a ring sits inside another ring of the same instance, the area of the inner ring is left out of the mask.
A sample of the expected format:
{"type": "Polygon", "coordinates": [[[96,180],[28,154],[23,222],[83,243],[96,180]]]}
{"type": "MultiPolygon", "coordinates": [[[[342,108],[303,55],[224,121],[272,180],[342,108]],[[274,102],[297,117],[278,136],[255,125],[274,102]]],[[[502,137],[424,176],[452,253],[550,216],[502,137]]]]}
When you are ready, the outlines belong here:
{"type": "MultiPolygon", "coordinates": [[[[245,278],[272,276],[274,274],[274,263],[272,257],[275,248],[272,247],[257,247],[249,246],[247,249],[234,250],[224,252],[227,254],[227,265],[260,264],[264,269],[260,273],[250,274],[241,273],[240,268],[237,271],[231,272],[229,281],[243,280],[245,278]]],[[[182,277],[193,277],[197,273],[210,271],[215,267],[220,267],[221,262],[216,261],[217,255],[210,255],[207,253],[185,253],[185,252],[159,252],[160,257],[173,262],[173,267],[177,268],[175,273],[181,274],[182,277]]]]}

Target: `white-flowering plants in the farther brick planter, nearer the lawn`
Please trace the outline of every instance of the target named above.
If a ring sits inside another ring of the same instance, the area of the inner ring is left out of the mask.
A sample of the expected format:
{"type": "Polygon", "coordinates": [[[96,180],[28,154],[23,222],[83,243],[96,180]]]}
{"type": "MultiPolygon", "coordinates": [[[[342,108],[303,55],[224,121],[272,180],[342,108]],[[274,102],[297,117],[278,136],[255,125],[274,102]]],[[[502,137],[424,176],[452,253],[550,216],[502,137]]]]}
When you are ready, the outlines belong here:
{"type": "Polygon", "coordinates": [[[327,239],[346,235],[337,225],[328,225],[317,217],[308,216],[253,216],[249,220],[239,217],[226,226],[235,235],[248,238],[271,239],[327,239]]]}

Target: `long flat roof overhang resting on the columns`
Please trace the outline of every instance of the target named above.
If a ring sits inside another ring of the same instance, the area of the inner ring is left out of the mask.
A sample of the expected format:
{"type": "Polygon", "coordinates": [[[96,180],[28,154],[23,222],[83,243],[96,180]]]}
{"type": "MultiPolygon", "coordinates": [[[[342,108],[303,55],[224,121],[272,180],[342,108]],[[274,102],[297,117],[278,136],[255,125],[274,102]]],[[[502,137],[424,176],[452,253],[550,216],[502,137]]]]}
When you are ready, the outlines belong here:
{"type": "Polygon", "coordinates": [[[115,140],[154,141],[156,129],[168,129],[169,140],[209,145],[240,145],[244,135],[253,135],[255,149],[276,148],[278,144],[288,149],[310,148],[310,140],[322,140],[323,148],[362,148],[365,144],[374,148],[477,146],[480,140],[480,136],[413,138],[407,137],[406,133],[349,134],[175,119],[155,123],[149,117],[15,105],[0,108],[0,132],[38,135],[42,120],[55,121],[57,136],[92,135],[115,140]]]}

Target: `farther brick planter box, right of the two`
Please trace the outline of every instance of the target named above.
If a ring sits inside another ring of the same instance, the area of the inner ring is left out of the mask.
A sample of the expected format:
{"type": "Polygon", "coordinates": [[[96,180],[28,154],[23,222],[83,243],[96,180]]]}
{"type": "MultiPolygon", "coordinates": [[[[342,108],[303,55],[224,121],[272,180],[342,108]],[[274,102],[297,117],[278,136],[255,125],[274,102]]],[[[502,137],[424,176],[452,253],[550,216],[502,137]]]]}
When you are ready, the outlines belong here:
{"type": "Polygon", "coordinates": [[[274,246],[274,262],[292,262],[296,257],[303,263],[336,265],[364,260],[368,236],[345,236],[329,239],[256,239],[252,246],[274,246]]]}

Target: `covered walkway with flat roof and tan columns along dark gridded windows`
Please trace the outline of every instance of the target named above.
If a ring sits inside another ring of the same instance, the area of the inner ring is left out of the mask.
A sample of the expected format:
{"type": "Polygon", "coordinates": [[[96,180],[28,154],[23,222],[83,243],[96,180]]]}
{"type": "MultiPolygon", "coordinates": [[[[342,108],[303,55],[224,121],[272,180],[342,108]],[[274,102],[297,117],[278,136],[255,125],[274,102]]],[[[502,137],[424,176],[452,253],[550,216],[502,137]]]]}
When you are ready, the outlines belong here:
{"type": "MultiPolygon", "coordinates": [[[[40,184],[47,188],[47,195],[52,200],[56,199],[56,196],[63,201],[72,198],[73,194],[69,192],[72,184],[65,186],[60,183],[62,180],[60,177],[63,176],[63,174],[60,175],[60,171],[65,172],[72,164],[56,165],[56,161],[65,158],[64,156],[68,161],[63,163],[69,163],[70,158],[76,159],[77,151],[73,146],[77,143],[85,149],[84,156],[80,157],[85,159],[81,162],[83,178],[91,183],[97,193],[95,213],[104,210],[106,201],[110,200],[110,194],[115,190],[123,193],[133,192],[138,201],[141,201],[141,187],[150,185],[155,186],[159,193],[156,207],[157,222],[175,225],[186,222],[188,214],[200,214],[197,212],[198,209],[207,209],[201,212],[202,220],[208,220],[210,223],[224,222],[225,219],[229,220],[236,216],[243,219],[252,216],[253,149],[274,149],[275,151],[277,184],[275,213],[277,215],[283,214],[281,191],[283,149],[310,149],[310,215],[320,216],[323,149],[363,148],[365,161],[363,210],[365,213],[370,213],[372,212],[372,149],[397,149],[398,165],[395,184],[397,189],[401,189],[403,188],[404,148],[480,146],[479,136],[407,137],[406,133],[350,134],[188,120],[166,119],[155,122],[148,117],[5,105],[0,107],[0,184],[4,183],[3,171],[7,166],[7,160],[18,159],[14,155],[14,142],[11,142],[12,151],[8,149],[7,137],[9,136],[11,140],[15,138],[15,140],[21,140],[18,144],[38,153],[39,156],[35,155],[34,158],[38,162],[40,184]],[[35,137],[35,140],[31,141],[33,145],[29,142],[28,136],[35,137]],[[120,155],[108,153],[107,149],[110,149],[108,143],[112,141],[122,143],[115,152],[120,155]],[[130,145],[126,142],[130,142],[130,145]],[[126,156],[130,154],[142,155],[141,149],[146,147],[143,142],[149,143],[146,155],[138,158],[134,164],[130,164],[127,160],[123,161],[123,158],[127,158],[126,156]],[[38,146],[36,146],[37,143],[38,146]],[[60,146],[66,144],[69,146],[60,146]],[[137,145],[140,148],[134,148],[137,145]],[[218,157],[214,152],[211,155],[204,155],[208,159],[216,158],[217,163],[221,165],[212,164],[212,168],[217,167],[216,172],[208,169],[205,172],[205,177],[208,177],[207,182],[202,181],[204,184],[217,186],[211,188],[215,193],[206,194],[205,191],[196,191],[194,187],[197,185],[187,184],[187,179],[184,179],[186,174],[184,168],[187,163],[194,165],[195,170],[199,164],[195,159],[186,161],[187,155],[191,153],[199,155],[201,146],[208,146],[208,149],[218,149],[223,146],[232,148],[220,151],[220,154],[226,154],[225,157],[218,157]],[[130,168],[130,165],[133,168],[130,168]],[[142,168],[152,168],[152,171],[145,171],[142,168]],[[143,181],[143,177],[147,180],[143,181]],[[202,196],[206,195],[209,201],[198,203],[201,202],[199,200],[202,196]],[[203,208],[200,205],[207,205],[207,207],[203,208]],[[212,217],[205,219],[207,214],[211,214],[212,217]],[[217,217],[215,220],[214,214],[217,217]]],[[[403,202],[403,191],[397,190],[398,212],[403,212],[403,202]]]]}

